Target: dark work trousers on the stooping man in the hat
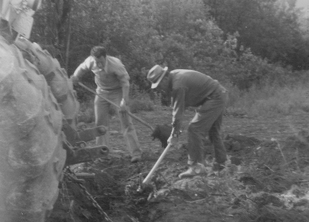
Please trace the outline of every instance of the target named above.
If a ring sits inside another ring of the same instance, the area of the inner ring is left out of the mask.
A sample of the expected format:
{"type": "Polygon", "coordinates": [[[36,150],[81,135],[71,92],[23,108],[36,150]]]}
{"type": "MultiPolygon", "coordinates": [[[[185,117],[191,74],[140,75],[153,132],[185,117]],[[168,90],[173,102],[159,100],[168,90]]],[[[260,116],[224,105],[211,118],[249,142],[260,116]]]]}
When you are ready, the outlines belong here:
{"type": "Polygon", "coordinates": [[[222,116],[227,100],[226,90],[219,87],[196,109],[196,114],[188,127],[188,155],[192,164],[204,163],[204,140],[209,136],[214,146],[214,156],[218,164],[226,161],[226,149],[220,136],[222,116]]]}

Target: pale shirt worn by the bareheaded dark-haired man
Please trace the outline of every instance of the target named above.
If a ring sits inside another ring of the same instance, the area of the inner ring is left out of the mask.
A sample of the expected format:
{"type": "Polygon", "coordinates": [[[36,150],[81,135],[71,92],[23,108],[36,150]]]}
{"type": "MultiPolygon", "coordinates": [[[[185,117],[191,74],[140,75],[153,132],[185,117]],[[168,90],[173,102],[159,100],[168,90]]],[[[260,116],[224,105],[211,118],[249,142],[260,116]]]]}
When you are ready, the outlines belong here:
{"type": "Polygon", "coordinates": [[[77,67],[73,76],[80,79],[86,70],[91,70],[95,74],[97,93],[101,90],[114,90],[129,86],[129,74],[118,58],[106,56],[104,69],[100,69],[95,59],[89,56],[77,67]]]}

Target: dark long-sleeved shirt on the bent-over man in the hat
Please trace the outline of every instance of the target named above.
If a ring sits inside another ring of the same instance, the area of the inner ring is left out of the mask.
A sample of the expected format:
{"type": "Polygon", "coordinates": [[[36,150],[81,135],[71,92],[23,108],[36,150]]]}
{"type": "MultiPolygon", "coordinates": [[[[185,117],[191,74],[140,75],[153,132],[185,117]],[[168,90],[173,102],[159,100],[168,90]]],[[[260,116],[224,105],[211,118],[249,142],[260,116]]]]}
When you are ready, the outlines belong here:
{"type": "Polygon", "coordinates": [[[203,73],[176,69],[170,72],[169,89],[173,105],[172,125],[174,134],[180,131],[186,107],[202,105],[208,96],[220,86],[217,80],[203,73]]]}

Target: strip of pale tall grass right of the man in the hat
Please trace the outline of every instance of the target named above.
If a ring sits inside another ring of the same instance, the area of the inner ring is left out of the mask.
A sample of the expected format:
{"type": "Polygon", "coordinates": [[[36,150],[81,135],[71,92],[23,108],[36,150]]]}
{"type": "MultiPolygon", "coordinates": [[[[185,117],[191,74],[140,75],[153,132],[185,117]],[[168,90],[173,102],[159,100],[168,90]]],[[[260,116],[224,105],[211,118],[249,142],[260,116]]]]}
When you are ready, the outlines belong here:
{"type": "Polygon", "coordinates": [[[248,91],[230,87],[229,92],[229,113],[272,117],[277,114],[289,115],[298,111],[309,111],[309,90],[305,83],[292,87],[266,84],[262,88],[253,86],[248,91]]]}

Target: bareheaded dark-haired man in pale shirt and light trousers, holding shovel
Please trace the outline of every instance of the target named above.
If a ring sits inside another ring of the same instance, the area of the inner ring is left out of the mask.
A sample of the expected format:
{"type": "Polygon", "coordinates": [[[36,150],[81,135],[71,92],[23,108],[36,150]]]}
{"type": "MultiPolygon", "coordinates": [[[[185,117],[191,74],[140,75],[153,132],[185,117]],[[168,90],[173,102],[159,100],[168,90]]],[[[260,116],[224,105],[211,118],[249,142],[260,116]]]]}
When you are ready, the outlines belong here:
{"type": "MultiPolygon", "coordinates": [[[[77,67],[70,79],[79,81],[87,70],[91,70],[95,74],[97,85],[97,95],[94,101],[95,125],[108,127],[111,119],[110,109],[116,109],[117,114],[120,115],[127,149],[132,157],[131,162],[138,162],[141,159],[141,150],[139,149],[136,130],[126,111],[126,105],[129,101],[130,77],[125,66],[118,58],[108,56],[104,47],[95,46],[91,49],[90,56],[77,67]],[[98,95],[119,104],[120,110],[98,95]]],[[[107,134],[97,137],[96,145],[108,145],[107,134]]]]}

